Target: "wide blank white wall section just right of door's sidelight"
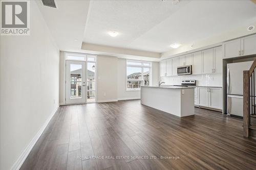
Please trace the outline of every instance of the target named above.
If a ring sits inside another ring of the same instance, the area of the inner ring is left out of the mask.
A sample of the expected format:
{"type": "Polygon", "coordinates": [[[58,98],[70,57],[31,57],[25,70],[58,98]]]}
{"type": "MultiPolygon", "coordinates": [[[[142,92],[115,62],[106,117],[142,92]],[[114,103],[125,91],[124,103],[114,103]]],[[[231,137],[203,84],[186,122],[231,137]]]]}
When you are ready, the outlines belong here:
{"type": "Polygon", "coordinates": [[[111,56],[98,56],[97,66],[98,102],[117,101],[118,58],[111,56]]]}

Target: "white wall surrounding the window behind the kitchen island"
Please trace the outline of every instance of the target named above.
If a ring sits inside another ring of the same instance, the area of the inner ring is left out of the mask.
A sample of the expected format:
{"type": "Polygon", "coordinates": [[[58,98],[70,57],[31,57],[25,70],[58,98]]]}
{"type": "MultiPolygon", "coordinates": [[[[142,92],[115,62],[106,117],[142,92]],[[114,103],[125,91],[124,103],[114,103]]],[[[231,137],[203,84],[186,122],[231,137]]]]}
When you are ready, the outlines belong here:
{"type": "MultiPolygon", "coordinates": [[[[159,79],[159,62],[152,62],[152,85],[156,86],[159,79]]],[[[126,91],[126,59],[118,59],[118,100],[140,99],[140,90],[126,91]]]]}

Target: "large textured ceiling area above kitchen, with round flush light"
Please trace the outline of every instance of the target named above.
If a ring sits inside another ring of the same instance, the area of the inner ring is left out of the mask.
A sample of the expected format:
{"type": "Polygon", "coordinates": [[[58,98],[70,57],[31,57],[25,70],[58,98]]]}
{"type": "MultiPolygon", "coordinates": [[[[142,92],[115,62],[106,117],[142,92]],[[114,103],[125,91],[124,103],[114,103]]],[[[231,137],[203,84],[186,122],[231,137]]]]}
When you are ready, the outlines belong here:
{"type": "Polygon", "coordinates": [[[162,53],[172,43],[192,44],[252,21],[251,1],[91,1],[83,41],[162,53]]]}

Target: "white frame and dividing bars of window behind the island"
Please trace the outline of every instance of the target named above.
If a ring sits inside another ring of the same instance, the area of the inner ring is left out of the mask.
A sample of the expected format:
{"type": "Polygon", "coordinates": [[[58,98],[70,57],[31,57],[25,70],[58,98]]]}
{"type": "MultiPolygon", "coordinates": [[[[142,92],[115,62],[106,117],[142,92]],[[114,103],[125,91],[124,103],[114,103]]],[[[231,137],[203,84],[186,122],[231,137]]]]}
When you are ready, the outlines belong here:
{"type": "Polygon", "coordinates": [[[126,91],[140,91],[141,88],[127,88],[127,81],[131,82],[142,82],[142,86],[144,85],[144,68],[150,68],[150,84],[152,81],[152,62],[151,61],[141,61],[141,60],[129,60],[126,59],[125,62],[125,90],[126,91]],[[141,65],[133,65],[133,64],[127,64],[127,62],[141,62],[141,65]],[[150,64],[149,66],[144,65],[144,63],[150,64]],[[127,79],[127,67],[141,67],[141,79],[127,79]]]}

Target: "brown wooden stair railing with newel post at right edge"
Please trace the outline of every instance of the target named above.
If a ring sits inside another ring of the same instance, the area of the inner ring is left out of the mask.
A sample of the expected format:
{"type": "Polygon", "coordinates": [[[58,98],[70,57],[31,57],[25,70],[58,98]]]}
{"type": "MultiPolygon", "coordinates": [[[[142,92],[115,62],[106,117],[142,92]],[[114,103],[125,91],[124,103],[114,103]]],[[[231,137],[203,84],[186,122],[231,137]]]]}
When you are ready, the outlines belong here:
{"type": "Polygon", "coordinates": [[[256,139],[256,59],[253,61],[250,70],[244,71],[243,76],[243,116],[244,116],[244,137],[256,139]]]}

